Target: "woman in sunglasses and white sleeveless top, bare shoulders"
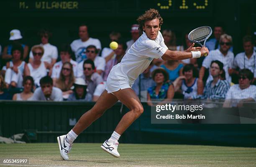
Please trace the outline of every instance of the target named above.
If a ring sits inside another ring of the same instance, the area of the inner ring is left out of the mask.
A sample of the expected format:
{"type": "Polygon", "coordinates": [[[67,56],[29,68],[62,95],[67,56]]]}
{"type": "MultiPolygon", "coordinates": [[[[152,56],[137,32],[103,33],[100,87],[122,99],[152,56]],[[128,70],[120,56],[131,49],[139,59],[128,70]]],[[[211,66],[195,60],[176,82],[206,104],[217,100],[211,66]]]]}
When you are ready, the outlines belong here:
{"type": "Polygon", "coordinates": [[[31,77],[34,79],[36,87],[40,87],[40,79],[47,75],[47,67],[50,65],[47,62],[42,62],[41,58],[44,55],[44,47],[41,45],[35,45],[31,49],[33,53],[33,61],[28,63],[28,68],[31,77]]]}

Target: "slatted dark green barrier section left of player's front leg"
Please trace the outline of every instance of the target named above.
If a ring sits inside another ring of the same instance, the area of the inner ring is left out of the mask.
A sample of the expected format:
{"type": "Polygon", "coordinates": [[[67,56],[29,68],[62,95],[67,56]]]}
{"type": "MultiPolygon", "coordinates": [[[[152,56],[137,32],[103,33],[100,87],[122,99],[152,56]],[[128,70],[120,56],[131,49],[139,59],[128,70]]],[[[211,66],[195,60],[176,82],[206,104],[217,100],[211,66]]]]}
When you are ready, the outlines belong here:
{"type": "MultiPolygon", "coordinates": [[[[56,137],[72,129],[69,119],[79,118],[94,102],[15,102],[0,101],[0,127],[3,137],[36,130],[35,142],[56,142],[56,137]]],[[[85,130],[76,142],[103,142],[113,133],[120,121],[117,103],[85,130]]]]}

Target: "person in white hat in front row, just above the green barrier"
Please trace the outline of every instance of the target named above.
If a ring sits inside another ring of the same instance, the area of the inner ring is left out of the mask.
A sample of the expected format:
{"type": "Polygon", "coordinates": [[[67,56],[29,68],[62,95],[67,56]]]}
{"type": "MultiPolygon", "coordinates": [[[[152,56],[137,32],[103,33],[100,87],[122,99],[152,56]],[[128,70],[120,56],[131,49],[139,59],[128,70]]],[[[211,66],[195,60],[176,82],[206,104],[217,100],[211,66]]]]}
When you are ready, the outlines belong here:
{"type": "Polygon", "coordinates": [[[87,92],[87,83],[83,78],[76,78],[74,82],[74,93],[69,95],[68,101],[92,101],[92,95],[87,92]]]}

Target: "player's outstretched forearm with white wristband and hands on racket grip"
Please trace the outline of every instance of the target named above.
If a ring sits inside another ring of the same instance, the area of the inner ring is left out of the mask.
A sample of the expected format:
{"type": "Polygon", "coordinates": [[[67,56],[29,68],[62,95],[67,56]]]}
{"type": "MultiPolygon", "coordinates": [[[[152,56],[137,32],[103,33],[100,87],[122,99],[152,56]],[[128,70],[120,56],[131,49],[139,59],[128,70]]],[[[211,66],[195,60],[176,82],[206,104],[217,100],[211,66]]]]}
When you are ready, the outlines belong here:
{"type": "Polygon", "coordinates": [[[193,43],[186,51],[172,51],[166,50],[162,56],[163,60],[184,60],[189,58],[197,58],[204,56],[205,53],[209,54],[207,47],[193,47],[193,43]]]}

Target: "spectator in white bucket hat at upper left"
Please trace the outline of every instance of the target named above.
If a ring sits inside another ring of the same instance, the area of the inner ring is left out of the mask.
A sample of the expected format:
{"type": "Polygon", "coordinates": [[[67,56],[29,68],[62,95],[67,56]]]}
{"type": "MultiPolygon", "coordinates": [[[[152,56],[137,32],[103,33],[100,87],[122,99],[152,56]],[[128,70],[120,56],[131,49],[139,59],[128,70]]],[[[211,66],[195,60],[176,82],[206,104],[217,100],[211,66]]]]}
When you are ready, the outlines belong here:
{"type": "MultiPolygon", "coordinates": [[[[20,34],[20,30],[15,29],[15,30],[10,31],[9,40],[10,40],[11,44],[4,47],[3,55],[2,55],[3,60],[9,61],[12,58],[11,50],[12,50],[14,43],[20,44],[23,47],[23,60],[26,60],[26,57],[28,56],[28,46],[25,44],[22,44],[20,42],[20,40],[22,38],[23,37],[20,34]]],[[[6,63],[6,61],[5,61],[5,63],[6,63]]]]}

